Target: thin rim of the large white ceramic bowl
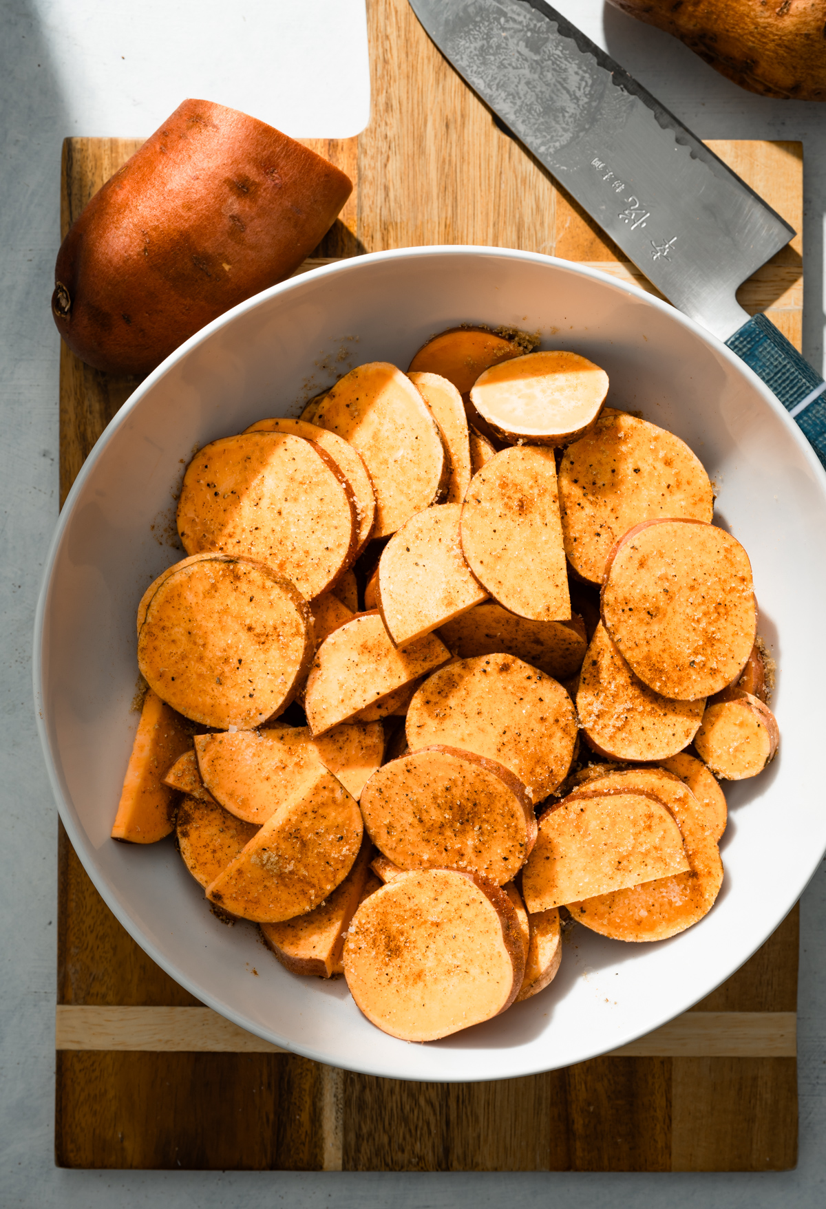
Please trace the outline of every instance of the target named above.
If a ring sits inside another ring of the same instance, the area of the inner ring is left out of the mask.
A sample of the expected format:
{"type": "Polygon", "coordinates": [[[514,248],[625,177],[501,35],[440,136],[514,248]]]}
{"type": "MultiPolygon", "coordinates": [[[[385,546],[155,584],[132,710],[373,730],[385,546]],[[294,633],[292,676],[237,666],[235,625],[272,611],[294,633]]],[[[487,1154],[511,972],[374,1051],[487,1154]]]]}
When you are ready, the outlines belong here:
{"type": "MultiPolygon", "coordinates": [[[[102,435],[96,441],[94,446],[89,451],[86,461],[83,462],[77,476],[69,490],[67,498],[64,501],[63,508],[58,515],[58,520],[52,534],[48,549],[46,553],[44,562],[44,572],[41,578],[40,591],[37,595],[37,604],[35,609],[34,619],[34,632],[33,632],[33,689],[34,689],[34,705],[35,705],[35,722],[37,727],[37,735],[40,739],[40,745],[42,748],[44,760],[46,764],[46,771],[48,775],[48,781],[54,796],[54,800],[58,808],[58,815],[65,827],[69,840],[75,849],[87,875],[89,877],[92,884],[94,885],[98,893],[106,903],[106,907],[112,912],[119,922],[126,929],[129,936],[141,947],[141,949],[155,961],[166,973],[169,974],[179,985],[183,985],[190,991],[195,997],[201,1000],[202,1003],[210,1007],[218,1014],[232,1023],[238,1025],[247,1032],[252,1032],[265,1041],[282,1046],[285,1052],[298,1053],[302,1057],[310,1058],[314,1062],[320,1062],[324,1064],[330,1063],[330,1057],[312,1046],[296,1045],[289,1039],[278,1037],[277,1032],[272,1029],[262,1029],[252,1023],[243,1013],[236,1011],[223,1001],[219,1001],[216,996],[202,988],[195,979],[181,973],[173,961],[166,959],[166,956],[156,948],[154,942],[149,936],[145,935],[140,925],[129,915],[129,913],[121,907],[117,899],[112,899],[109,893],[109,886],[106,885],[103,875],[97,868],[97,862],[94,860],[94,852],[86,841],[83,832],[75,826],[73,817],[73,808],[67,802],[63,788],[60,785],[60,779],[58,776],[57,763],[52,756],[52,748],[50,742],[47,716],[48,705],[45,694],[44,684],[44,648],[45,648],[45,621],[46,621],[46,608],[47,598],[50,592],[50,585],[52,574],[54,571],[54,563],[57,561],[64,536],[69,525],[71,522],[77,498],[83,490],[86,480],[92,474],[94,465],[98,459],[103,456],[109,441],[112,439],[114,434],[117,432],[121,424],[123,424],[132,411],[139,405],[141,399],[155,387],[155,384],[167,374],[169,370],[177,365],[179,361],[184,360],[192,349],[197,348],[200,345],[208,341],[214,332],[231,325],[237,318],[246,314],[249,311],[254,311],[256,307],[266,303],[270,299],[278,297],[282,294],[289,294],[293,289],[296,289],[302,284],[305,277],[312,276],[313,279],[320,279],[330,276],[341,276],[352,272],[363,272],[369,270],[371,265],[381,264],[385,261],[393,260],[408,260],[408,259],[420,259],[426,256],[456,256],[456,258],[486,258],[486,259],[501,259],[506,258],[508,260],[515,261],[527,261],[538,265],[547,265],[548,267],[555,267],[565,272],[570,272],[574,276],[580,276],[585,278],[591,278],[602,285],[608,287],[613,291],[629,295],[643,302],[646,306],[653,307],[655,311],[660,311],[668,314],[672,322],[682,325],[688,331],[698,336],[703,342],[709,345],[715,353],[722,357],[734,370],[740,374],[746,382],[757,391],[762,397],[763,401],[768,404],[769,409],[779,417],[781,417],[781,423],[792,433],[795,442],[802,450],[805,459],[808,461],[810,468],[814,470],[815,480],[820,485],[821,493],[826,499],[826,469],[821,465],[813,446],[809,444],[808,439],[804,436],[802,429],[795,421],[790,417],[787,410],[778,400],[774,393],[766,386],[766,383],[755,374],[755,371],[743,361],[737,353],[732,352],[717,336],[711,331],[703,328],[697,320],[692,319],[689,316],[678,311],[676,307],[671,306],[670,302],[649,294],[643,290],[640,285],[633,282],[626,282],[612,277],[610,273],[602,270],[594,268],[590,265],[583,265],[577,261],[564,260],[559,256],[548,256],[543,253],[524,251],[521,249],[514,248],[498,248],[492,245],[483,244],[424,244],[410,248],[393,248],[383,251],[365,253],[363,255],[352,256],[347,259],[339,260],[336,262],[319,266],[318,268],[311,270],[308,273],[299,273],[295,277],[290,277],[284,282],[279,282],[276,285],[270,287],[266,290],[261,290],[259,294],[254,294],[252,297],[246,299],[237,306],[226,311],[224,314],[213,319],[212,323],[207,324],[204,328],[200,329],[189,340],[180,345],[173,353],[171,353],[155,370],[151,371],[144,378],[143,382],[132,392],[128,399],[122,404],[116,415],[111,418],[102,435]],[[273,1040],[275,1039],[275,1040],[273,1040]]],[[[745,320],[744,320],[745,322],[745,320]]],[[[772,925],[772,931],[774,931],[779,924],[785,919],[786,914],[795,906],[795,902],[803,893],[805,886],[814,877],[816,869],[819,868],[822,854],[818,854],[811,862],[811,867],[805,875],[805,880],[799,886],[799,890],[792,898],[790,903],[784,903],[782,909],[776,914],[776,921],[772,925]]],[[[751,956],[757,951],[757,949],[766,942],[772,931],[767,933],[761,941],[758,941],[753,948],[743,958],[743,961],[730,970],[726,977],[721,980],[724,982],[732,977],[751,956]]],[[[720,985],[720,984],[718,984],[720,985]]],[[[707,991],[703,991],[698,995],[698,1000],[701,999],[707,991]]],[[[695,1001],[694,1001],[695,1002],[695,1001]]],[[[686,1007],[681,1007],[674,1016],[666,1017],[660,1024],[666,1023],[669,1019],[674,1019],[675,1016],[686,1011],[686,1007]]],[[[646,1036],[651,1029],[648,1026],[641,1028],[639,1031],[633,1031],[630,1035],[624,1036],[622,1045],[626,1045],[631,1041],[637,1040],[641,1036],[646,1036]]],[[[576,1060],[587,1060],[590,1057],[599,1057],[605,1054],[607,1051],[597,1049],[595,1053],[584,1054],[583,1058],[576,1060]]],[[[403,1072],[387,1072],[386,1070],[372,1069],[369,1064],[360,1065],[347,1065],[347,1063],[340,1064],[342,1069],[351,1069],[354,1071],[360,1071],[364,1074],[379,1075],[380,1077],[391,1078],[404,1078],[414,1080],[415,1075],[408,1075],[403,1072]]],[[[553,1065],[544,1065],[537,1068],[533,1064],[525,1066],[525,1070],[516,1070],[509,1074],[491,1075],[487,1071],[481,1070],[478,1075],[473,1071],[462,1072],[461,1075],[454,1076],[452,1074],[446,1074],[444,1082],[478,1082],[481,1080],[490,1081],[497,1078],[515,1078],[528,1074],[539,1074],[542,1071],[556,1069],[553,1065]]]]}

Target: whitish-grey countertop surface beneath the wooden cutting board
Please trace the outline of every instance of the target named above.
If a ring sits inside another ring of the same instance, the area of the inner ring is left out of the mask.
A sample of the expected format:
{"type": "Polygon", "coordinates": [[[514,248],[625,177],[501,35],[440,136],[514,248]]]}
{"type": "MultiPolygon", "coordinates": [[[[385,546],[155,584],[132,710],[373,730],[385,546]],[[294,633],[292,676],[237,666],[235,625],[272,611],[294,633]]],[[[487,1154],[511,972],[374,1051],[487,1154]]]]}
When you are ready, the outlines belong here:
{"type": "MultiPolygon", "coordinates": [[[[445,0],[447,2],[447,0],[445,0]]],[[[824,355],[826,104],[729,83],[686,47],[602,0],[556,7],[700,138],[801,139],[804,352],[824,355]]],[[[356,134],[369,112],[362,0],[0,0],[0,442],[5,798],[0,903],[0,1204],[243,1203],[570,1209],[809,1207],[826,1187],[826,869],[802,901],[801,1152],[767,1175],[64,1172],[53,1167],[57,814],[35,733],[30,647],[58,502],[58,337],[50,314],[62,139],[149,134],[185,96],[246,109],[296,137],[356,134]],[[322,37],[319,31],[324,30],[322,37]],[[327,51],[322,47],[328,47],[327,51]]],[[[821,635],[813,635],[821,641],[821,635]]],[[[820,686],[813,686],[816,692],[820,686]]],[[[767,892],[770,892],[767,887],[767,892]]]]}

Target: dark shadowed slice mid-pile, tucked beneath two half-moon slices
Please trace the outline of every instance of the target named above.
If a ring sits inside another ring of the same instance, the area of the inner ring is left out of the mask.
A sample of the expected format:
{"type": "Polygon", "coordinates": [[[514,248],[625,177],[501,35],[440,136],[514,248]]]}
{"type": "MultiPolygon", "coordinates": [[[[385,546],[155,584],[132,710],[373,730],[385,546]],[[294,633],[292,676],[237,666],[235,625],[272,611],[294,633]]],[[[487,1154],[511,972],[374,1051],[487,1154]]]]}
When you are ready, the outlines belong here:
{"type": "Polygon", "coordinates": [[[538,667],[554,679],[579,670],[588,642],[576,613],[570,621],[530,621],[485,601],[439,626],[439,637],[460,659],[504,652],[538,667]]]}

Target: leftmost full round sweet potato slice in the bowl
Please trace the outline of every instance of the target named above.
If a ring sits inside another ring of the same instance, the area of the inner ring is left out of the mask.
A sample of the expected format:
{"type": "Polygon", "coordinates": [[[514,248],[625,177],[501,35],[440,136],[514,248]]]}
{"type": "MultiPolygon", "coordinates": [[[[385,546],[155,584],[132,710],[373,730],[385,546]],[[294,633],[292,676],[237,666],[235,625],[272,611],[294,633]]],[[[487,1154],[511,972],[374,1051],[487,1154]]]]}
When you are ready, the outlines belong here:
{"type": "Polygon", "coordinates": [[[296,588],[252,559],[185,559],[164,572],[138,635],[149,686],[193,722],[250,730],[283,712],[314,649],[296,588]]]}

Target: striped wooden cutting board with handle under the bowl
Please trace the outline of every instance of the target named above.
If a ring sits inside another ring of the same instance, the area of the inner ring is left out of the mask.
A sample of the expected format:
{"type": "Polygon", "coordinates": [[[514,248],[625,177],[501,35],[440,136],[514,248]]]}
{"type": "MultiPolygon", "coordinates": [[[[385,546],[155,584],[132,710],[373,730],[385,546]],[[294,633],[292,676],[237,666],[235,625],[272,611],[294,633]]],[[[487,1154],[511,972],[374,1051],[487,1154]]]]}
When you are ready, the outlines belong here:
{"type": "MultiPolygon", "coordinates": [[[[406,0],[369,0],[368,12],[370,126],[358,139],[308,143],[357,184],[314,259],[496,244],[596,265],[651,289],[498,129],[406,0]]],[[[138,145],[67,140],[63,232],[138,145]]],[[[710,145],[802,229],[799,144],[710,145]]],[[[739,295],[798,348],[801,253],[798,236],[739,295]]],[[[62,349],[62,502],[135,386],[62,349]]],[[[567,1070],[466,1084],[333,1070],[230,1025],[131,939],[63,828],[58,924],[62,1167],[707,1172],[796,1163],[797,908],[727,983],[649,1037],[567,1070]]],[[[262,949],[261,960],[275,959],[262,949]]]]}

